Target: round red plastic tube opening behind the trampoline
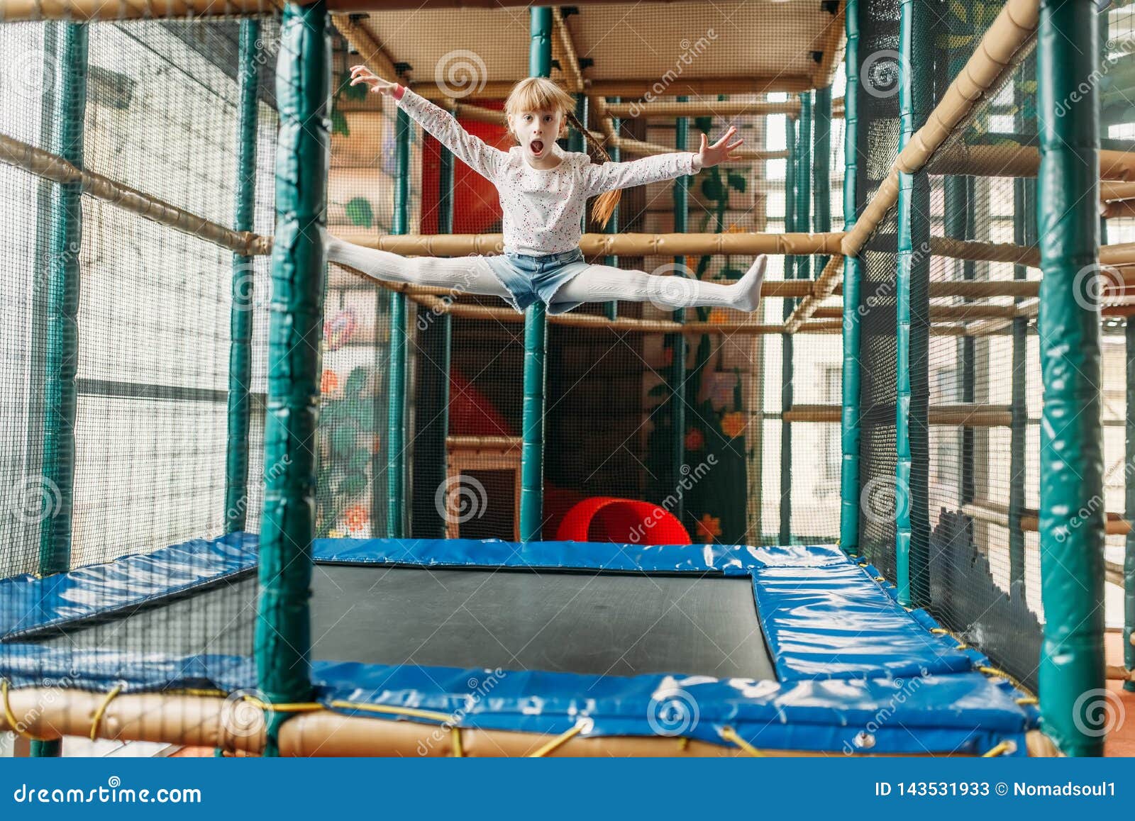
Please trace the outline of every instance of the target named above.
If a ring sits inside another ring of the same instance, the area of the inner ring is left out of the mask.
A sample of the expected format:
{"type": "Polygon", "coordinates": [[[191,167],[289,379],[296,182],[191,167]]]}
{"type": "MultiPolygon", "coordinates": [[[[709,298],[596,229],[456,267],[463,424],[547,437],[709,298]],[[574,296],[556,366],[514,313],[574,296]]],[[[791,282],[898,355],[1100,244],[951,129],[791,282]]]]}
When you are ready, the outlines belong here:
{"type": "Polygon", "coordinates": [[[690,544],[682,523],[657,505],[640,499],[596,496],[575,505],[556,531],[560,541],[620,544],[690,544]]]}

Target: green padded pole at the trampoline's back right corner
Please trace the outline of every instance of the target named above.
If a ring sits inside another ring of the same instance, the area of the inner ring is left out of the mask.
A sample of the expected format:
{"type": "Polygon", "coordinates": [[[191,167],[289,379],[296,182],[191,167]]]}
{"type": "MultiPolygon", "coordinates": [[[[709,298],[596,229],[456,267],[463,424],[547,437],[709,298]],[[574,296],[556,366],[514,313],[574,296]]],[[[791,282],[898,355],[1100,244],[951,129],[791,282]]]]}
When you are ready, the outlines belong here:
{"type": "MultiPolygon", "coordinates": [[[[843,95],[843,230],[856,221],[859,183],[859,0],[844,10],[847,93],[843,95]]],[[[843,379],[840,412],[840,545],[859,555],[859,301],[863,269],[858,257],[843,260],[843,379]]]]}

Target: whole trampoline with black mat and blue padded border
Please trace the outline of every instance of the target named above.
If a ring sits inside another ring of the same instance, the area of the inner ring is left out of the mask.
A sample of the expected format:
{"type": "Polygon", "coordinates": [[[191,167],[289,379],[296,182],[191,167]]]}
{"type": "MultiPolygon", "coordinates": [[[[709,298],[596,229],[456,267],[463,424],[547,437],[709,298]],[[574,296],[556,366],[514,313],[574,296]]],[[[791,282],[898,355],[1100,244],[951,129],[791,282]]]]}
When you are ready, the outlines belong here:
{"type": "MultiPolygon", "coordinates": [[[[1037,723],[984,657],[836,547],[312,549],[314,697],[284,722],[285,752],[1024,755],[1037,723]]],[[[67,678],[104,710],[144,696],[167,740],[200,742],[185,704],[255,686],[257,550],[238,533],[5,579],[0,675],[67,678]],[[210,612],[230,616],[166,628],[210,612]]]]}

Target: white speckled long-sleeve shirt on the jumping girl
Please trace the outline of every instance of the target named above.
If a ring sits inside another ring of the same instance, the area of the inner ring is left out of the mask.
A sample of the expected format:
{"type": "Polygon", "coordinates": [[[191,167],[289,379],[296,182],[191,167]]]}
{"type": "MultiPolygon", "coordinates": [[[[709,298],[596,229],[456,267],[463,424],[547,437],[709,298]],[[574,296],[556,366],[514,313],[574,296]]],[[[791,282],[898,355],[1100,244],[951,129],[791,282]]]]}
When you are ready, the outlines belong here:
{"type": "Polygon", "coordinates": [[[541,170],[528,164],[519,145],[510,151],[489,145],[469,134],[448,111],[410,88],[400,87],[395,98],[454,156],[496,186],[504,214],[505,253],[540,255],[578,248],[588,197],[698,170],[697,155],[689,152],[596,164],[587,154],[562,151],[555,143],[552,151],[561,162],[541,170]]]}

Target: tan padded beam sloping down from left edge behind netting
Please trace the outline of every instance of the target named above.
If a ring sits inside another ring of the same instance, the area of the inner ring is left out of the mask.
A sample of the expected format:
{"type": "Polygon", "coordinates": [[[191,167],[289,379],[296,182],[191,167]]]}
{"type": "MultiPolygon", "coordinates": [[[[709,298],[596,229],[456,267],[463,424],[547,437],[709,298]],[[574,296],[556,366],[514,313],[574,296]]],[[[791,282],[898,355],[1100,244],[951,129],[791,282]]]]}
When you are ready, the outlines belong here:
{"type": "Polygon", "coordinates": [[[271,253],[271,237],[232,228],[207,220],[163,200],[143,194],[127,185],[93,171],[81,171],[62,158],[0,134],[0,162],[64,185],[78,184],[84,194],[108,202],[138,217],[190,234],[245,256],[271,253]]]}

